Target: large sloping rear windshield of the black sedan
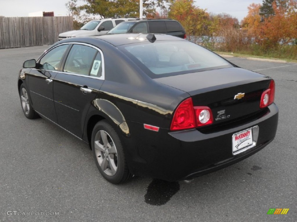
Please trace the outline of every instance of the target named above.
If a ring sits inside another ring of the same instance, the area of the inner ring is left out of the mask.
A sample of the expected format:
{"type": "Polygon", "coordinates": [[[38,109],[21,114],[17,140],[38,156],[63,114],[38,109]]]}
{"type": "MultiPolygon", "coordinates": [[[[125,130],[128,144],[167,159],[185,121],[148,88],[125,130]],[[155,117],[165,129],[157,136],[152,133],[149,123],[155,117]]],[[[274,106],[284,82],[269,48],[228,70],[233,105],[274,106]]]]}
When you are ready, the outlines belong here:
{"type": "Polygon", "coordinates": [[[217,54],[189,41],[144,42],[120,49],[151,78],[233,67],[217,54]]]}

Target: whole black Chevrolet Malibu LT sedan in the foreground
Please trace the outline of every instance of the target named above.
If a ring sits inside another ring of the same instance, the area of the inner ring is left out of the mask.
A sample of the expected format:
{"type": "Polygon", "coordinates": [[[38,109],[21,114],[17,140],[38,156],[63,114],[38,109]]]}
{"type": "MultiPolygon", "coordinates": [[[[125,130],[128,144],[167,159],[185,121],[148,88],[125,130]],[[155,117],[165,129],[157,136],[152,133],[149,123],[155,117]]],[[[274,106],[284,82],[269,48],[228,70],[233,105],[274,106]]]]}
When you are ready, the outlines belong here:
{"type": "Polygon", "coordinates": [[[277,131],[274,81],[162,34],[69,38],[24,62],[25,116],[89,143],[111,183],[188,180],[236,163],[277,131]]]}

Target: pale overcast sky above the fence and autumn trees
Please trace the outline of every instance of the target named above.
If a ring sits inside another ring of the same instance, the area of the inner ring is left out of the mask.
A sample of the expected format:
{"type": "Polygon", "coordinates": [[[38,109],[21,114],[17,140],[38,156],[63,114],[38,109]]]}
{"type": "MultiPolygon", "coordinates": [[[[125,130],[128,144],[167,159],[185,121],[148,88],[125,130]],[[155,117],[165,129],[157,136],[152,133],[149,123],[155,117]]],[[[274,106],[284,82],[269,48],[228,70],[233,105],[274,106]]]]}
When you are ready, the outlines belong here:
{"type": "MultiPolygon", "coordinates": [[[[55,16],[67,16],[65,4],[68,0],[0,0],[0,16],[25,17],[31,12],[54,12],[55,16]]],[[[208,13],[227,13],[240,22],[247,15],[251,3],[263,0],[196,0],[195,5],[207,9],[208,13]]]]}

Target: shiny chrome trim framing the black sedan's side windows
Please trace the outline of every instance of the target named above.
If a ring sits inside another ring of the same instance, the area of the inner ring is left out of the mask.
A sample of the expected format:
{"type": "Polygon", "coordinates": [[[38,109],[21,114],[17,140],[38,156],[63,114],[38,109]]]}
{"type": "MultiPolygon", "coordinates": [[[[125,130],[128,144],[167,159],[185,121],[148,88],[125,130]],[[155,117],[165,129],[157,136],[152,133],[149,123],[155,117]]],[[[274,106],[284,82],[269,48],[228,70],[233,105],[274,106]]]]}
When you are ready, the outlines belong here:
{"type": "MultiPolygon", "coordinates": [[[[43,54],[42,57],[40,57],[37,61],[39,62],[40,59],[42,59],[48,52],[55,49],[56,47],[61,46],[61,45],[66,45],[66,44],[85,45],[85,46],[89,46],[89,47],[92,47],[92,48],[96,49],[101,55],[102,75],[100,77],[96,77],[96,76],[91,76],[91,75],[82,75],[82,74],[78,74],[78,73],[69,73],[69,72],[57,71],[57,70],[47,70],[47,69],[45,69],[45,71],[54,72],[54,73],[64,73],[64,74],[69,74],[69,75],[77,75],[77,76],[84,76],[84,77],[87,77],[87,78],[105,80],[105,64],[104,64],[103,52],[98,47],[87,44],[87,43],[83,43],[83,42],[64,42],[64,43],[58,44],[58,45],[54,46],[53,48],[51,48],[49,51],[45,52],[45,54],[43,54]]],[[[36,69],[36,68],[33,68],[33,69],[39,70],[39,69],[36,69]]]]}

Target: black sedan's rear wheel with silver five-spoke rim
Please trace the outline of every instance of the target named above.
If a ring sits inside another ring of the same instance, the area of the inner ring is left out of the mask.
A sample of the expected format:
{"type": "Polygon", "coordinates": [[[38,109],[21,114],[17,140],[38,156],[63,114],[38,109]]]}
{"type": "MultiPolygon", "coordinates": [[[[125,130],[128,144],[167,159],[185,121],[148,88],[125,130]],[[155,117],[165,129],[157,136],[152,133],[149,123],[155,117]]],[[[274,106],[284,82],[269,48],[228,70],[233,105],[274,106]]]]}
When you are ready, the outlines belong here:
{"type": "Polygon", "coordinates": [[[106,120],[94,126],[91,143],[96,165],[107,181],[120,184],[131,178],[119,135],[106,120]]]}

